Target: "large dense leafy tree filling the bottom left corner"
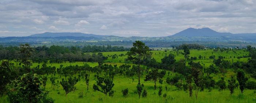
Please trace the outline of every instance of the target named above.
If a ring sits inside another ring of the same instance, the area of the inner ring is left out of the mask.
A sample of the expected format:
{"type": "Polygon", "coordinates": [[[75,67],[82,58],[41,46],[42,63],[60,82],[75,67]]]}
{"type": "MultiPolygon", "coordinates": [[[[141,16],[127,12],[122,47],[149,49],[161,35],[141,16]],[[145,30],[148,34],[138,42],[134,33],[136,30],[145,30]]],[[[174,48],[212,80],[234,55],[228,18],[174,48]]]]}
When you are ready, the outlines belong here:
{"type": "Polygon", "coordinates": [[[8,92],[11,103],[53,103],[48,92],[41,88],[37,74],[27,73],[12,81],[8,92]]]}

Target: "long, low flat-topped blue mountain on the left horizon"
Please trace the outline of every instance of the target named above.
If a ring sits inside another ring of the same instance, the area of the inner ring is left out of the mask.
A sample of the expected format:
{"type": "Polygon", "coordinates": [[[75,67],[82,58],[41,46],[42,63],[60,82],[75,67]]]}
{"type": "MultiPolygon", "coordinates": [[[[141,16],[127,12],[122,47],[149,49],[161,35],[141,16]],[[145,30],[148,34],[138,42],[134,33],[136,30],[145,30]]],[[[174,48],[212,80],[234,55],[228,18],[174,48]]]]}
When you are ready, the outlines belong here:
{"type": "Polygon", "coordinates": [[[84,33],[50,33],[45,32],[42,34],[33,34],[29,37],[95,37],[95,38],[102,38],[102,37],[110,37],[110,35],[94,35],[94,34],[84,34],[84,33]]]}

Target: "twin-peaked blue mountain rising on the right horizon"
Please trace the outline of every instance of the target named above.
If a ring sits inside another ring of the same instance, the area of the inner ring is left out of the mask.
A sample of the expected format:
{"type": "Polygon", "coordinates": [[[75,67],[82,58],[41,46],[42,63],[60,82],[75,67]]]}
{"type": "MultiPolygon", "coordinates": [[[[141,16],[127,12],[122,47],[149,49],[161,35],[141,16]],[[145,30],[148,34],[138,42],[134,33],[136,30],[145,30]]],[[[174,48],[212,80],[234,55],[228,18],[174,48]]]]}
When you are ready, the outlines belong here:
{"type": "Polygon", "coordinates": [[[170,37],[227,37],[232,33],[219,33],[210,28],[187,28],[179,33],[171,35],[170,37]]]}

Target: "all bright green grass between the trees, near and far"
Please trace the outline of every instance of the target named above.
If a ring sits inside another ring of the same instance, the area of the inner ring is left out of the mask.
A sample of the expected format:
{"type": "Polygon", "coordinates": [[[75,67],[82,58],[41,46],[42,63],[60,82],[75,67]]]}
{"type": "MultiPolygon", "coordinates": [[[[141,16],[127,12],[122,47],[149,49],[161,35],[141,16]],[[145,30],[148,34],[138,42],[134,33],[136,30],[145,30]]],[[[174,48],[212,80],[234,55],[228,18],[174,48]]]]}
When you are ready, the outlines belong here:
{"type": "MultiPolygon", "coordinates": [[[[164,50],[158,50],[158,51],[151,51],[153,52],[153,58],[155,58],[158,62],[161,62],[161,58],[163,58],[165,55],[168,55],[169,53],[173,53],[176,57],[176,60],[179,61],[181,58],[184,58],[182,54],[177,55],[174,53],[172,50],[167,50],[165,52],[164,50]]],[[[229,51],[229,53],[224,52],[213,52],[213,50],[191,50],[191,54],[189,55],[190,57],[197,57],[197,60],[194,60],[194,62],[200,62],[205,64],[205,67],[208,67],[210,64],[212,64],[213,60],[208,60],[209,56],[215,55],[216,58],[218,56],[225,56],[225,60],[228,60],[230,62],[236,62],[236,61],[242,61],[246,62],[248,58],[240,58],[237,59],[238,56],[244,56],[248,55],[248,52],[245,52],[244,50],[235,50],[236,53],[229,51]],[[206,59],[200,59],[198,56],[205,56],[206,59]],[[231,58],[229,58],[231,56],[231,58]],[[234,58],[235,56],[235,58],[234,58]]],[[[127,52],[102,52],[104,56],[108,55],[114,55],[114,54],[126,54],[127,52]]],[[[125,64],[126,62],[124,59],[126,56],[123,57],[118,57],[115,59],[112,59],[109,57],[107,60],[104,61],[104,64],[112,64],[112,65],[117,65],[120,66],[122,64],[125,64]]],[[[14,62],[14,61],[12,61],[14,62]]],[[[69,66],[69,65],[84,65],[85,63],[89,64],[90,66],[97,66],[97,62],[64,62],[64,63],[48,63],[48,66],[56,66],[56,68],[59,68],[60,64],[64,66],[69,66]]],[[[38,63],[33,63],[32,67],[37,66],[38,63]]],[[[40,66],[42,64],[39,64],[40,66]]],[[[130,64],[129,65],[134,65],[130,64]]],[[[167,71],[168,72],[168,71],[167,71]]],[[[169,71],[171,72],[171,71],[169,71]]],[[[76,91],[69,93],[67,96],[65,96],[63,88],[60,87],[57,89],[56,87],[53,88],[51,87],[50,83],[50,77],[51,75],[48,75],[48,81],[46,85],[46,90],[50,91],[49,96],[52,97],[56,103],[256,103],[256,91],[255,90],[249,90],[245,89],[244,94],[240,94],[239,88],[235,89],[235,93],[233,95],[230,95],[229,90],[226,89],[224,91],[219,91],[218,89],[213,89],[211,92],[209,92],[208,89],[204,89],[204,91],[199,92],[198,94],[198,99],[196,99],[195,94],[193,94],[192,97],[189,97],[189,93],[185,92],[183,90],[178,90],[177,87],[174,85],[169,85],[165,82],[167,77],[173,77],[175,76],[175,73],[171,72],[170,76],[167,74],[163,78],[164,82],[163,84],[157,83],[157,86],[162,86],[163,91],[162,94],[167,94],[166,98],[163,98],[163,96],[159,97],[158,96],[158,89],[154,90],[154,83],[147,81],[145,82],[145,73],[141,77],[141,83],[143,83],[146,88],[148,94],[147,98],[140,98],[138,97],[138,94],[135,93],[136,91],[136,85],[138,83],[138,77],[133,76],[133,77],[127,77],[124,75],[116,75],[114,77],[113,83],[114,87],[113,90],[114,96],[113,98],[109,96],[105,96],[103,93],[99,91],[93,91],[93,84],[96,83],[96,79],[94,78],[94,73],[90,73],[90,84],[89,84],[89,91],[86,90],[86,83],[84,79],[81,79],[75,86],[76,86],[76,91]],[[132,78],[135,80],[132,82],[132,78]],[[167,86],[167,91],[165,90],[165,86],[167,86]],[[128,88],[129,89],[129,94],[128,97],[123,97],[121,90],[128,88]],[[59,92],[59,94],[58,94],[59,92]],[[79,98],[79,94],[83,92],[83,98],[79,98]]],[[[103,75],[103,73],[102,73],[103,75]]],[[[227,84],[227,79],[230,79],[231,76],[236,75],[233,72],[233,69],[228,69],[227,73],[225,73],[225,81],[227,84]]],[[[246,74],[248,75],[248,74],[246,74]]],[[[211,74],[213,79],[217,82],[218,80],[223,77],[221,73],[219,74],[211,74]]],[[[57,80],[61,80],[62,78],[65,78],[64,76],[58,77],[57,80]]],[[[56,81],[57,81],[56,80],[56,81]]],[[[256,81],[253,78],[250,78],[249,80],[256,81]]],[[[195,91],[193,91],[195,92],[195,91]]],[[[7,96],[2,96],[0,97],[0,103],[7,103],[7,96]]]]}

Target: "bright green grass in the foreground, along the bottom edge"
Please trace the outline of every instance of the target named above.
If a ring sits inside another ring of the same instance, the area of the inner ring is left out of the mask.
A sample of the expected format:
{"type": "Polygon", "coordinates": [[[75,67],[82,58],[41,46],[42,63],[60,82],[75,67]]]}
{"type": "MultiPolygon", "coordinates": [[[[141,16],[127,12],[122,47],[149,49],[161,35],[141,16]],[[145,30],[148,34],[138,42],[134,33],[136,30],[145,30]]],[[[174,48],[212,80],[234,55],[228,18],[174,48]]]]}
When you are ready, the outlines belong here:
{"type": "MultiPolygon", "coordinates": [[[[174,73],[172,73],[172,76],[174,76],[174,73]]],[[[168,76],[166,75],[164,80],[166,77],[168,76]]],[[[58,89],[56,87],[51,87],[49,78],[50,75],[48,76],[46,90],[50,91],[49,96],[52,97],[56,103],[255,103],[256,98],[255,90],[245,89],[244,94],[241,95],[240,90],[236,89],[235,93],[230,95],[228,89],[224,91],[213,89],[211,92],[209,92],[208,89],[204,89],[203,92],[199,92],[199,97],[196,99],[195,95],[189,97],[188,92],[183,90],[179,91],[174,85],[168,85],[166,82],[164,82],[162,85],[159,83],[157,84],[158,86],[161,85],[163,87],[162,94],[167,94],[167,97],[163,98],[162,96],[158,96],[158,89],[154,90],[153,82],[143,81],[144,76],[142,76],[142,83],[145,85],[144,88],[147,89],[148,96],[147,98],[138,99],[138,94],[134,93],[134,91],[136,91],[138,78],[134,77],[135,80],[132,82],[132,77],[126,77],[122,75],[117,75],[114,77],[115,85],[113,90],[115,92],[113,98],[111,98],[109,96],[105,96],[99,91],[93,91],[92,85],[96,83],[96,80],[93,77],[93,73],[91,73],[90,77],[89,91],[86,90],[87,86],[85,81],[81,80],[75,85],[77,88],[76,91],[71,92],[65,96],[65,92],[61,85],[58,89]],[[168,88],[167,91],[165,90],[165,86],[168,88]],[[121,93],[121,90],[125,88],[129,89],[127,98],[123,97],[121,93]],[[58,92],[60,92],[60,94],[58,94],[58,92]],[[83,92],[83,98],[78,97],[81,92],[83,92]]],[[[58,80],[60,80],[60,78],[58,80]]],[[[6,103],[6,96],[1,97],[0,102],[6,103]]]]}

